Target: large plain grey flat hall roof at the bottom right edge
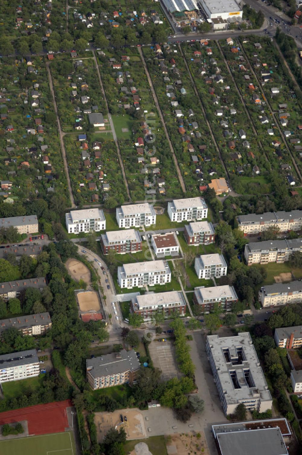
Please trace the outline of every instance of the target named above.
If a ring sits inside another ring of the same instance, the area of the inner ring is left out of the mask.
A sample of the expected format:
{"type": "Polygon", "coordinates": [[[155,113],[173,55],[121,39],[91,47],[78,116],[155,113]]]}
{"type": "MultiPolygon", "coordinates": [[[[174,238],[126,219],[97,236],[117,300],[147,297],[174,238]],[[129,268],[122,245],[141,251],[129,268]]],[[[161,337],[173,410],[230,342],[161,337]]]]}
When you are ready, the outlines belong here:
{"type": "Polygon", "coordinates": [[[219,455],[288,455],[278,427],[256,430],[239,427],[228,430],[228,424],[225,427],[227,430],[213,430],[219,455]]]}

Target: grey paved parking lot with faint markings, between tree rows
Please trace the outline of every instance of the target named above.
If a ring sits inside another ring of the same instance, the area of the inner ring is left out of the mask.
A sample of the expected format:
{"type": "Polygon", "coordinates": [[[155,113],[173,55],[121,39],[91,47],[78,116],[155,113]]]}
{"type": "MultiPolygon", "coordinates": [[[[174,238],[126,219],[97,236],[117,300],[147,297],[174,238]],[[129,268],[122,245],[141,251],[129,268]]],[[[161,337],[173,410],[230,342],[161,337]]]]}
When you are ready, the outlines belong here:
{"type": "Polygon", "coordinates": [[[175,349],[171,341],[152,341],[149,346],[153,365],[162,370],[164,380],[178,377],[180,374],[176,367],[175,349]]]}

